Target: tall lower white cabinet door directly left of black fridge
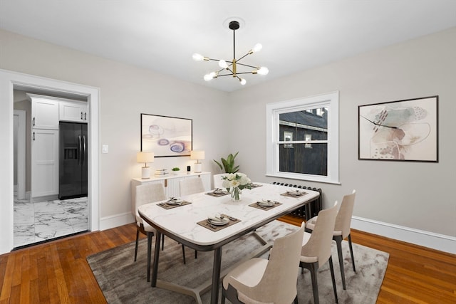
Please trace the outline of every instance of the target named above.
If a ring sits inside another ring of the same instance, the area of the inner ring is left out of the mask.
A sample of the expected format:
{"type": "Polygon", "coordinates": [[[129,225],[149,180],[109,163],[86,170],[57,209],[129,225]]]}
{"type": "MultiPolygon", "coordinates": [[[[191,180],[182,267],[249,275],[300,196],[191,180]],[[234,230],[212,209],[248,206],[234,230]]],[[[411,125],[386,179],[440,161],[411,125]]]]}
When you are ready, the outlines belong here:
{"type": "Polygon", "coordinates": [[[31,196],[58,194],[58,130],[32,130],[31,196]]]}

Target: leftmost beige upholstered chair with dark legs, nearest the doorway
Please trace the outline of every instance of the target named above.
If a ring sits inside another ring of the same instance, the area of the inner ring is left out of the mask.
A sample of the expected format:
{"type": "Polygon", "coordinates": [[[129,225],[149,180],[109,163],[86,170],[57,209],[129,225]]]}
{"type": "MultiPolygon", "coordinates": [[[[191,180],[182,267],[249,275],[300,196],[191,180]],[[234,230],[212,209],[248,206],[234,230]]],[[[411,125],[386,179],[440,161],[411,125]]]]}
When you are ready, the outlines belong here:
{"type": "MultiPolygon", "coordinates": [[[[155,228],[143,221],[138,214],[138,207],[143,204],[149,204],[154,201],[163,201],[166,199],[165,189],[162,184],[157,183],[145,183],[136,186],[135,201],[132,201],[132,214],[135,216],[136,221],[136,243],[135,243],[135,261],[138,256],[138,239],[140,232],[147,236],[147,282],[150,281],[150,256],[152,252],[152,236],[155,234],[155,228]]],[[[164,238],[164,236],[163,236],[164,238]]],[[[162,248],[163,248],[162,239],[162,248]]],[[[160,241],[160,240],[156,240],[160,241]]],[[[184,255],[185,263],[185,251],[182,245],[182,253],[184,255]]]]}

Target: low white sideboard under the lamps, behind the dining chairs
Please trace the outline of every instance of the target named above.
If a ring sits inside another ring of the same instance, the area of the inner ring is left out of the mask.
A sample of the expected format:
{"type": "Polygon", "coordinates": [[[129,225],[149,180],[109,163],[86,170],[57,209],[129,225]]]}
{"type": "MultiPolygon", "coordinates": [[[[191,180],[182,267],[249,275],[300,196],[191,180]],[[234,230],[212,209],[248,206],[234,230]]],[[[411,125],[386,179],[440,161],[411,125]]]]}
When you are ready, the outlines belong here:
{"type": "Polygon", "coordinates": [[[180,180],[186,178],[199,177],[202,179],[204,191],[211,189],[211,172],[200,172],[190,174],[177,174],[167,175],[165,177],[150,177],[150,179],[141,179],[140,177],[131,180],[131,199],[135,201],[136,197],[136,186],[145,183],[160,183],[165,187],[165,195],[167,197],[179,197],[180,196],[180,180]]]}

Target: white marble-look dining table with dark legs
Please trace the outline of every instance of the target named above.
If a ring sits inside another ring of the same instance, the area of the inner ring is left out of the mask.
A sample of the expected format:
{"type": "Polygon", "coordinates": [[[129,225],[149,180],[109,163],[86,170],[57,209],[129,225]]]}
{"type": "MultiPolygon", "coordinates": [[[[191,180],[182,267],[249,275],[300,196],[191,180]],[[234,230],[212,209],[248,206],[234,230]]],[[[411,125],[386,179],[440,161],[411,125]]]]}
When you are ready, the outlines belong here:
{"type": "MultiPolygon", "coordinates": [[[[309,189],[299,189],[306,194],[299,197],[286,196],[288,191],[296,188],[275,184],[254,183],[259,187],[242,190],[242,200],[232,201],[229,194],[219,197],[210,196],[208,192],[201,192],[182,196],[180,199],[190,202],[172,209],[165,209],[160,202],[142,205],[138,208],[141,218],[157,229],[156,240],[162,234],[174,239],[197,251],[214,251],[212,281],[204,283],[199,288],[187,288],[172,282],[158,280],[157,270],[160,255],[160,242],[155,241],[154,262],[152,267],[152,287],[165,288],[186,295],[192,295],[197,303],[202,303],[200,296],[211,289],[211,303],[217,303],[219,296],[219,281],[221,278],[222,246],[238,239],[240,236],[255,231],[264,224],[289,214],[301,206],[309,206],[311,201],[318,199],[319,193],[309,189]],[[274,208],[254,208],[249,206],[257,201],[276,201],[274,208]],[[220,226],[215,231],[197,224],[209,216],[226,214],[239,219],[227,227],[220,226]]],[[[307,208],[309,210],[309,208],[307,208]]],[[[259,238],[259,236],[257,236],[259,238]]],[[[261,241],[261,238],[259,238],[261,241]]],[[[262,242],[262,241],[261,241],[262,242]]],[[[260,255],[271,248],[271,244],[262,242],[264,247],[254,255],[260,255]]],[[[227,271],[224,271],[226,273],[227,271]]]]}

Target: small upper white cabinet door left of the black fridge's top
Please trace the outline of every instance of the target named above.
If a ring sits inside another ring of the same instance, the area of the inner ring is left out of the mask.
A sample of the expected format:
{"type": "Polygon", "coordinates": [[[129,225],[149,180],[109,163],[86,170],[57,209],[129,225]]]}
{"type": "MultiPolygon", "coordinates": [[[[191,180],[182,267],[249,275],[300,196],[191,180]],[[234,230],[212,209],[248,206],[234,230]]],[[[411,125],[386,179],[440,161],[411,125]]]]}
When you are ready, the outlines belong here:
{"type": "Polygon", "coordinates": [[[31,116],[33,129],[58,130],[58,101],[32,98],[31,116]]]}

